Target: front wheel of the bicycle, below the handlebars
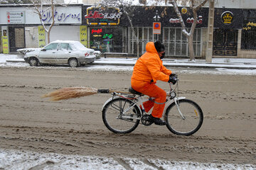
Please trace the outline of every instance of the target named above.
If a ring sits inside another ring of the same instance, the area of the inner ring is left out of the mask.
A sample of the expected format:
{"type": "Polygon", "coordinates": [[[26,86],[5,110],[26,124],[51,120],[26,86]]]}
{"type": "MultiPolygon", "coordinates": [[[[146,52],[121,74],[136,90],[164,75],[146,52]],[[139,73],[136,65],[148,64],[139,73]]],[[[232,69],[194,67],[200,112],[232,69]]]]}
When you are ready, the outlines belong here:
{"type": "Polygon", "coordinates": [[[176,135],[192,135],[203,123],[203,111],[194,101],[181,99],[166,109],[166,126],[176,135]]]}

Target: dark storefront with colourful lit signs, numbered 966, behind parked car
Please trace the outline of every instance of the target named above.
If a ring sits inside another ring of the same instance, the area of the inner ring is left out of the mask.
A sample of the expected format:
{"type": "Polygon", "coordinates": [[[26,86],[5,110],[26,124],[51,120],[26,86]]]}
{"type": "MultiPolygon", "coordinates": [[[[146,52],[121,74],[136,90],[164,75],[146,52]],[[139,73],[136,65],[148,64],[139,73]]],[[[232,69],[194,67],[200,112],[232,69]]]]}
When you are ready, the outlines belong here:
{"type": "Polygon", "coordinates": [[[101,52],[126,52],[127,28],[119,8],[84,6],[82,26],[87,29],[88,47],[101,52]]]}

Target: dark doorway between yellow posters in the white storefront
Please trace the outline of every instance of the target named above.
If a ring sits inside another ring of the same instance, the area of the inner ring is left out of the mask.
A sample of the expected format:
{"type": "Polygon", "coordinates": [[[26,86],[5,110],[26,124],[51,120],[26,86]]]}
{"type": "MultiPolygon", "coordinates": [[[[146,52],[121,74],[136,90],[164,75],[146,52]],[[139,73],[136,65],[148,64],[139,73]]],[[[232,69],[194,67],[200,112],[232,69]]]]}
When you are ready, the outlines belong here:
{"type": "Polygon", "coordinates": [[[9,27],[10,52],[16,52],[18,49],[25,48],[25,30],[24,28],[9,27]]]}

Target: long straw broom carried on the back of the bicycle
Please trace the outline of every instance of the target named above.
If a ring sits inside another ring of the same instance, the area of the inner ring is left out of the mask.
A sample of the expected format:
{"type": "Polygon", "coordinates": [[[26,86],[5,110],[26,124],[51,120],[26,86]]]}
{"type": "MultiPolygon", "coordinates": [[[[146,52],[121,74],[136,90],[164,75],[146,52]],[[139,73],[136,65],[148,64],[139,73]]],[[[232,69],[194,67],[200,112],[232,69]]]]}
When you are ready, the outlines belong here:
{"type": "Polygon", "coordinates": [[[109,89],[95,89],[91,87],[66,87],[53,91],[50,94],[45,94],[42,97],[49,97],[50,101],[60,101],[70,98],[80,98],[82,96],[89,96],[92,94],[111,94],[113,92],[129,94],[129,92],[110,91],[109,89]]]}

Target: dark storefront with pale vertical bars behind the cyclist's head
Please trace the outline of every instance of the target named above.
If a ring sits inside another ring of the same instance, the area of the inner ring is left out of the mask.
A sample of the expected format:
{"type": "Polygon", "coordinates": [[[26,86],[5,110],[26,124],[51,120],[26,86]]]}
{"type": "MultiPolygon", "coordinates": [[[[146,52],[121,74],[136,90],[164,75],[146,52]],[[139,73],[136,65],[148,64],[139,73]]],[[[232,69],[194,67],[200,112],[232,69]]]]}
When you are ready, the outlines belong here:
{"type": "MultiPolygon", "coordinates": [[[[143,7],[137,10],[134,15],[137,20],[134,22],[134,32],[139,38],[139,53],[144,53],[146,42],[161,40],[166,47],[167,56],[188,56],[188,43],[186,36],[181,31],[181,24],[172,6],[156,7],[146,9],[143,7]],[[158,20],[156,20],[158,18],[158,20]],[[161,33],[154,34],[153,23],[161,23],[161,33]]],[[[183,8],[182,18],[188,28],[193,23],[193,14],[188,8],[183,8]]],[[[208,8],[201,8],[198,11],[198,24],[194,32],[193,45],[195,55],[201,57],[203,44],[203,28],[207,28],[208,24],[208,8]]],[[[137,43],[131,28],[128,29],[128,51],[137,54],[137,43]]]]}

